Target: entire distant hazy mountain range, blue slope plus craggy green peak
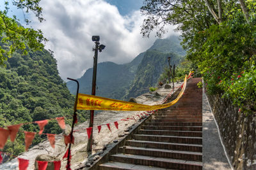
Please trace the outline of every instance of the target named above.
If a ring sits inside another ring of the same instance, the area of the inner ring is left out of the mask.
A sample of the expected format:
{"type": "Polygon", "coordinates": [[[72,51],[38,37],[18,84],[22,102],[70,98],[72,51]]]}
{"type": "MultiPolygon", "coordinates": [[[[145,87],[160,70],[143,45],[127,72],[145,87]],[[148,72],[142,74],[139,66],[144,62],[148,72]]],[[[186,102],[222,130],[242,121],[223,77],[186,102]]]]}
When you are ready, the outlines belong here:
{"type": "MultiPolygon", "coordinates": [[[[173,35],[166,39],[157,39],[146,52],[140,53],[127,64],[99,63],[96,95],[113,99],[136,97],[141,94],[136,92],[138,89],[157,84],[163,67],[168,64],[167,57],[172,57],[172,64],[178,64],[185,53],[180,46],[179,36],[173,35]]],[[[77,80],[81,86],[80,92],[91,94],[92,68],[77,80]]],[[[76,93],[74,82],[68,81],[67,87],[72,94],[76,93]]]]}

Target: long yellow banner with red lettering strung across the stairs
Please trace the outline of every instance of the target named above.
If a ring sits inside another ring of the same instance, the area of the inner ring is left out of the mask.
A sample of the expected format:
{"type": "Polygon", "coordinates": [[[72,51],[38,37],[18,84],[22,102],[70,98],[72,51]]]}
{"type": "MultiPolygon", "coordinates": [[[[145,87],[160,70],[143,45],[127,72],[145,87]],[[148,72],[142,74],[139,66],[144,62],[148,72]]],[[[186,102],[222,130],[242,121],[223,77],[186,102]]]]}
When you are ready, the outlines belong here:
{"type": "MultiPolygon", "coordinates": [[[[189,76],[191,73],[189,73],[189,76]]],[[[77,110],[123,110],[123,111],[146,111],[146,110],[159,110],[168,108],[179,101],[182,97],[187,83],[187,75],[184,79],[184,84],[179,93],[179,96],[175,100],[166,104],[157,104],[153,106],[131,103],[127,101],[120,101],[115,99],[108,99],[105,97],[92,96],[88,94],[78,94],[77,110]]]]}

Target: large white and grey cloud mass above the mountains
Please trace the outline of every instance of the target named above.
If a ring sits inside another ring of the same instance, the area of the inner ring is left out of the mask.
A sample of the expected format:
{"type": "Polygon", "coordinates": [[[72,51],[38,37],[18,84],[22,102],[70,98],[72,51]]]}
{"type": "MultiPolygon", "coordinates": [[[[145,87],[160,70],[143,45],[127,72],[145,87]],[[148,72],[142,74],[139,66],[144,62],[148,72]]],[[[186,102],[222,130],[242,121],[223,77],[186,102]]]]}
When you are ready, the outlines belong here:
{"type": "MultiPolygon", "coordinates": [[[[99,53],[98,62],[130,62],[155,41],[142,38],[143,17],[135,11],[123,17],[116,6],[102,0],[44,0],[45,22],[33,27],[42,29],[49,42],[46,49],[54,51],[63,80],[79,78],[93,66],[92,36],[99,35],[106,48],[99,53]]],[[[166,36],[172,34],[172,28],[166,36]]]]}

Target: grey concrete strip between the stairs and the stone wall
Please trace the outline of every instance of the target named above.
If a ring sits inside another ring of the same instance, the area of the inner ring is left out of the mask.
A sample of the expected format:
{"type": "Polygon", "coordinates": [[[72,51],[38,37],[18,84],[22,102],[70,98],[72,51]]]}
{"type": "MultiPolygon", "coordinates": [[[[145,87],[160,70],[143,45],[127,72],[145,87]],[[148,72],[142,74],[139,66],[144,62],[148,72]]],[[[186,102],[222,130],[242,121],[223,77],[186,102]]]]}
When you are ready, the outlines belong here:
{"type": "Polygon", "coordinates": [[[203,169],[232,169],[221,145],[218,128],[203,89],[203,169]]]}

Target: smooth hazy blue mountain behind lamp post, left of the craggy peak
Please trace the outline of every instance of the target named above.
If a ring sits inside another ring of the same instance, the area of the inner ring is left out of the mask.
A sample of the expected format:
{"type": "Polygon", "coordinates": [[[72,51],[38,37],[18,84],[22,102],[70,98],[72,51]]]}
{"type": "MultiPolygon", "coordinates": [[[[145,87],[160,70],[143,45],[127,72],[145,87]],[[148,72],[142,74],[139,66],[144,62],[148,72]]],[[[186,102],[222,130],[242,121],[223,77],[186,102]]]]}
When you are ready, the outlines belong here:
{"type": "MultiPolygon", "coordinates": [[[[97,66],[97,90],[96,95],[122,99],[134,79],[138,65],[145,53],[140,53],[132,62],[128,64],[115,64],[114,62],[101,62],[97,66]]],[[[92,92],[92,71],[88,69],[81,78],[79,92],[91,94],[92,92]]],[[[72,94],[76,93],[76,83],[67,82],[67,87],[72,94]]]]}

